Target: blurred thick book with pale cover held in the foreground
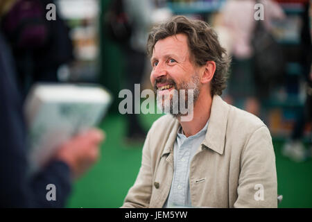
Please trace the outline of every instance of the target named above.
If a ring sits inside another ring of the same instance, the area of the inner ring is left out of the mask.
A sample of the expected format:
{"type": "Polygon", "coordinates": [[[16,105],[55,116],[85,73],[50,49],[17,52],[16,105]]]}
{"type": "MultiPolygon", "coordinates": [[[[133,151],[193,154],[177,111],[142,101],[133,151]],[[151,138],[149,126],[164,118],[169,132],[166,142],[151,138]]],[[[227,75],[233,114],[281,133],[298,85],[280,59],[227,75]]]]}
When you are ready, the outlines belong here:
{"type": "Polygon", "coordinates": [[[98,85],[34,85],[24,105],[31,172],[49,162],[64,142],[96,126],[111,103],[110,92],[98,85]]]}

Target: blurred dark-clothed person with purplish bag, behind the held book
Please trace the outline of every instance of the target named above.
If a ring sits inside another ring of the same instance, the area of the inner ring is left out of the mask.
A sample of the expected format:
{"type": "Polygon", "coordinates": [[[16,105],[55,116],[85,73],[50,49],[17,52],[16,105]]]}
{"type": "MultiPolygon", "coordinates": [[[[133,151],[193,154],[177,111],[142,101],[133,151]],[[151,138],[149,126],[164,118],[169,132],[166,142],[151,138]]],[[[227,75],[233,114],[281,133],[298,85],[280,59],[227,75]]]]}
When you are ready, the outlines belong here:
{"type": "Polygon", "coordinates": [[[37,81],[58,82],[58,68],[73,60],[73,46],[58,12],[55,20],[46,19],[46,6],[53,0],[16,2],[3,16],[1,28],[12,48],[18,85],[25,97],[37,81]]]}

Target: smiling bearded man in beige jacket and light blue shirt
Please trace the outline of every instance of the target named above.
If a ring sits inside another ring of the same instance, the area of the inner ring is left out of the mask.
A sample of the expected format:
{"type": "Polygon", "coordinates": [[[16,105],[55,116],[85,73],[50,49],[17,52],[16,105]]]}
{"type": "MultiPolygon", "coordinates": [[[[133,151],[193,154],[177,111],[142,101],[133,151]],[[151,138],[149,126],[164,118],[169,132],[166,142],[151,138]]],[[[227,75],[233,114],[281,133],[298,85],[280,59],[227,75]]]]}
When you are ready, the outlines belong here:
{"type": "Polygon", "coordinates": [[[277,207],[270,132],[220,98],[230,60],[216,33],[205,22],[173,17],[150,32],[148,53],[157,105],[168,114],[148,132],[123,207],[277,207]],[[180,103],[192,105],[188,121],[180,103]]]}

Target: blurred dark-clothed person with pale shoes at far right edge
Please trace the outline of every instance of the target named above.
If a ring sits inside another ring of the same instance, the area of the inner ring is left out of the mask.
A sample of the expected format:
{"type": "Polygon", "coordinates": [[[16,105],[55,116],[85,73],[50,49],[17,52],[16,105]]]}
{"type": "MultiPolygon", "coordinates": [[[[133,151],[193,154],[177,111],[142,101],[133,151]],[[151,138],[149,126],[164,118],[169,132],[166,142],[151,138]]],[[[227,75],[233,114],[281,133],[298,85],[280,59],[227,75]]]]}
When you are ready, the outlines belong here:
{"type": "Polygon", "coordinates": [[[304,13],[302,14],[303,26],[301,31],[300,43],[300,64],[302,65],[302,74],[306,82],[306,101],[304,107],[297,113],[295,126],[291,134],[291,138],[286,141],[282,153],[296,162],[302,162],[312,156],[312,134],[308,135],[309,149],[306,150],[302,139],[304,138],[304,130],[306,123],[312,121],[312,46],[311,46],[311,3],[304,4],[304,13]],[[309,14],[310,11],[310,14],[309,14]]]}

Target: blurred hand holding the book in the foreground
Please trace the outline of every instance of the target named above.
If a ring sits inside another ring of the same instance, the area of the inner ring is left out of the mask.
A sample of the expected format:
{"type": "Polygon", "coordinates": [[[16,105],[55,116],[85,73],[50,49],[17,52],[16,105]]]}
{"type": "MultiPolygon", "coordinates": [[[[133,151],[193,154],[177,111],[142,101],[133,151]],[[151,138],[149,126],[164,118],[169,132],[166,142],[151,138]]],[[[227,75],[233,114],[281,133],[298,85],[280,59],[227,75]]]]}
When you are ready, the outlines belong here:
{"type": "Polygon", "coordinates": [[[73,178],[79,178],[98,160],[99,145],[103,139],[105,135],[101,130],[88,130],[60,146],[55,159],[66,162],[73,178]]]}

